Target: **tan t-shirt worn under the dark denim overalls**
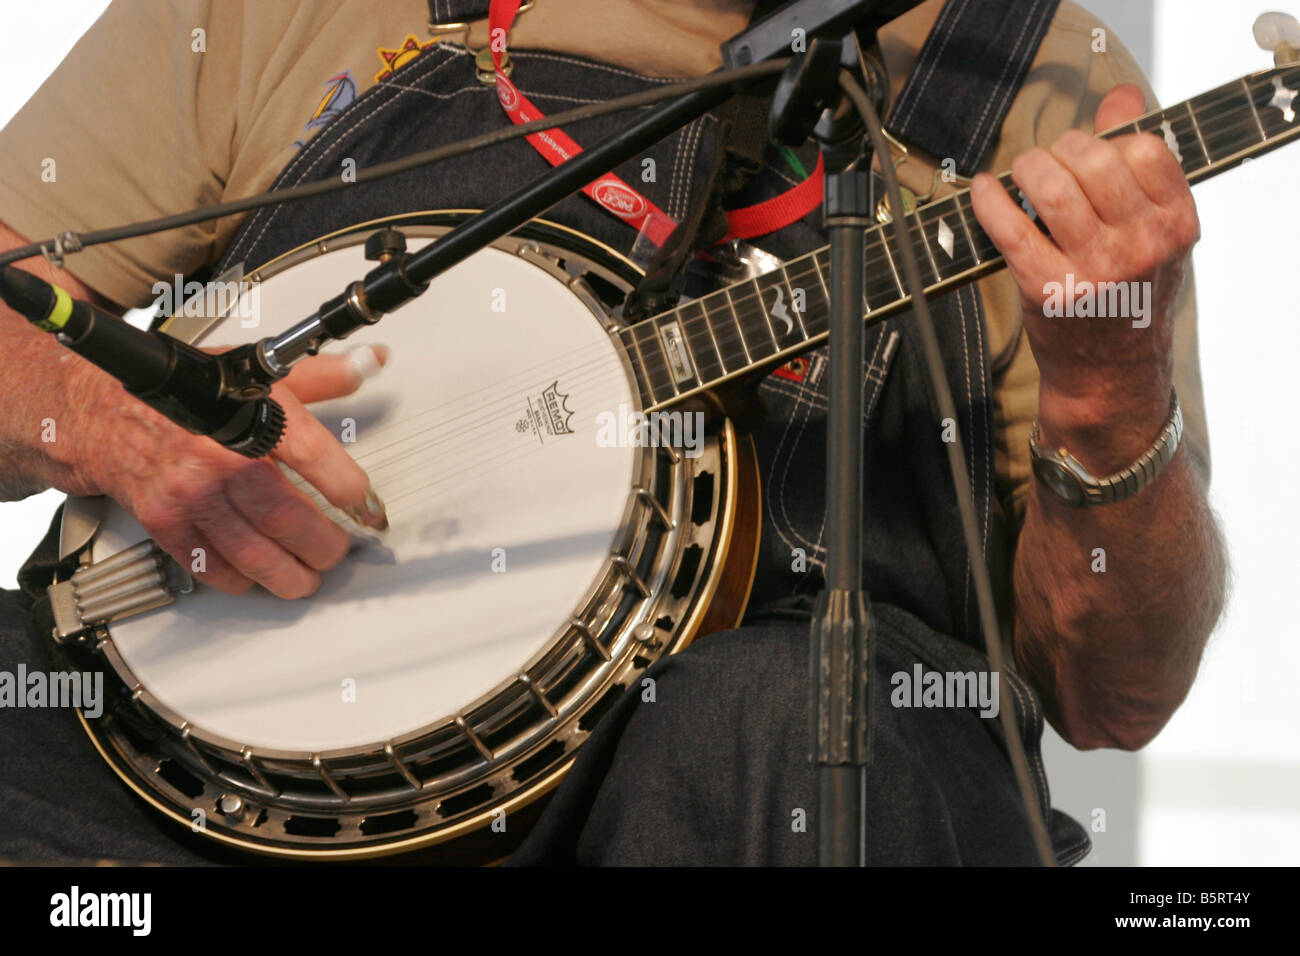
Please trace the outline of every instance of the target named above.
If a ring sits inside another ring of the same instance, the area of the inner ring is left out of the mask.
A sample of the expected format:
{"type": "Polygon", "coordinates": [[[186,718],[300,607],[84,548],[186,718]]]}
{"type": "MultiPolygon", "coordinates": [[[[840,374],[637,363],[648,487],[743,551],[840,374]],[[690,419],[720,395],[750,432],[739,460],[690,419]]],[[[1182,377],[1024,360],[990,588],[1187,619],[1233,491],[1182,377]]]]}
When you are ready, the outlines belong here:
{"type": "MultiPolygon", "coordinates": [[[[901,90],[942,0],[928,0],[881,31],[901,90]]],[[[751,0],[547,0],[520,16],[516,48],[580,55],[658,77],[720,65],[719,44],[748,23],[751,0]]],[[[116,0],[13,121],[0,131],[0,221],[30,239],[152,219],[265,190],[299,146],[421,47],[425,0],[116,0]],[[44,181],[46,159],[55,179],[44,181]]],[[[1091,131],[1102,95],[1150,88],[1122,43],[1063,0],[984,164],[1008,169],[1022,151],[1070,127],[1091,131]]],[[[473,26],[471,48],[486,44],[473,26]]],[[[521,85],[526,79],[520,78],[521,85]]],[[[931,160],[900,166],[924,193],[931,160]]],[[[953,191],[940,185],[937,195],[953,191]]],[[[159,278],[214,263],[240,222],[230,217],[161,235],[98,246],[69,260],[83,282],[124,306],[146,304],[159,278]]],[[[1005,585],[1010,544],[1030,486],[1028,433],[1037,368],[1020,328],[1019,297],[1004,271],[979,284],[994,363],[997,509],[1005,585]]],[[[1184,441],[1206,471],[1209,442],[1196,358],[1191,278],[1175,324],[1175,384],[1184,441]]]]}

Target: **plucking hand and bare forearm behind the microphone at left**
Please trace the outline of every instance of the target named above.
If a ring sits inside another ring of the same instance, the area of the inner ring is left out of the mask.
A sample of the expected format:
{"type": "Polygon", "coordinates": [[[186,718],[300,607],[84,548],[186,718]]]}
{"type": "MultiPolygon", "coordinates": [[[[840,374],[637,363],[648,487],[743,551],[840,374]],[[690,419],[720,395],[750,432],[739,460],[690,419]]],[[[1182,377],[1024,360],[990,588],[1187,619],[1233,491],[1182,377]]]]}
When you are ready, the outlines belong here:
{"type": "MultiPolygon", "coordinates": [[[[0,222],[0,250],[25,245],[0,222]]],[[[74,298],[113,308],[43,259],[20,268],[74,298]]],[[[205,571],[199,579],[230,593],[260,584],[280,597],[306,597],[320,588],[321,571],[347,553],[347,532],[290,484],[274,462],[250,460],[190,434],[3,303],[0,355],[0,498],[49,486],[66,494],[107,494],[182,567],[194,568],[195,549],[202,548],[205,571]],[[47,419],[55,424],[53,441],[44,434],[47,419]]],[[[382,364],[386,350],[376,358],[382,364]]],[[[295,367],[272,390],[286,415],[285,437],[273,457],[332,505],[384,528],[387,518],[365,472],[303,407],[350,394],[360,384],[359,367],[346,356],[318,355],[295,367]]]]}

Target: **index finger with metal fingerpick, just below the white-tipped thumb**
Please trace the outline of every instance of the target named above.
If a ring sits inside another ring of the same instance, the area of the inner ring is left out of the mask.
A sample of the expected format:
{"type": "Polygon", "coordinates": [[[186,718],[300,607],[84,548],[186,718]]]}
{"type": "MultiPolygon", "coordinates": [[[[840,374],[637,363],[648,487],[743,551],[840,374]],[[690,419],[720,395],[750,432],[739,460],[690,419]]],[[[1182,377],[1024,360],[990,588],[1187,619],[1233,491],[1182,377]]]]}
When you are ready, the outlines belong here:
{"type": "Polygon", "coordinates": [[[285,437],[274,457],[309,481],[334,507],[384,531],[389,518],[370,479],[325,425],[286,392],[274,393],[285,407],[285,437]]]}

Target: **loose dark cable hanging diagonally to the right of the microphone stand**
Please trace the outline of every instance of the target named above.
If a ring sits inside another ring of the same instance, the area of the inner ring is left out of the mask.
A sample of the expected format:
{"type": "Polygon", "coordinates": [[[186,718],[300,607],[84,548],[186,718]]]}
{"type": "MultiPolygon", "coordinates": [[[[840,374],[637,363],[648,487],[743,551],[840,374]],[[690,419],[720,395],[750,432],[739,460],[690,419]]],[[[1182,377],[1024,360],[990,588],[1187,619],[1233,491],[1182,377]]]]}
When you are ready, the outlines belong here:
{"type": "MultiPolygon", "coordinates": [[[[904,280],[907,284],[907,294],[911,297],[911,312],[916,321],[916,330],[920,333],[922,351],[926,356],[926,368],[935,389],[935,401],[939,406],[939,419],[952,419],[957,421],[957,406],[953,403],[953,393],[948,388],[948,376],[944,372],[944,359],[939,351],[939,337],[935,334],[935,323],[930,316],[930,303],[926,300],[926,285],[920,280],[920,268],[916,264],[916,251],[911,245],[906,230],[906,217],[898,215],[904,209],[902,195],[898,189],[898,176],[889,161],[889,144],[885,142],[884,130],[880,126],[880,117],[871,104],[871,98],[866,90],[853,78],[848,70],[840,73],[840,87],[853,100],[854,108],[862,116],[862,121],[871,134],[871,142],[876,155],[880,156],[880,169],[884,174],[885,191],[889,196],[889,208],[894,211],[890,224],[894,239],[898,243],[898,252],[902,260],[904,280]]],[[[971,566],[971,576],[975,579],[975,604],[979,606],[980,630],[984,633],[984,653],[988,656],[989,666],[997,674],[998,683],[1002,683],[1005,661],[1002,658],[1001,632],[997,627],[997,615],[993,611],[993,585],[988,576],[988,564],[979,545],[979,531],[975,522],[975,496],[971,490],[970,473],[966,471],[966,451],[962,446],[961,434],[954,433],[948,446],[948,467],[953,475],[953,486],[957,492],[957,510],[962,520],[962,537],[966,540],[966,555],[971,566]]],[[[1030,818],[1030,830],[1034,836],[1034,845],[1039,852],[1039,858],[1044,866],[1056,866],[1056,857],[1052,853],[1052,840],[1048,836],[1044,822],[1043,808],[1039,805],[1034,784],[1030,782],[1030,761],[1024,754],[1024,741],[1020,731],[1015,726],[1013,708],[1000,708],[998,717],[1002,721],[1002,732],[1006,736],[1006,749],[1010,754],[1011,769],[1015,773],[1015,783],[1020,790],[1020,799],[1030,818]]]]}

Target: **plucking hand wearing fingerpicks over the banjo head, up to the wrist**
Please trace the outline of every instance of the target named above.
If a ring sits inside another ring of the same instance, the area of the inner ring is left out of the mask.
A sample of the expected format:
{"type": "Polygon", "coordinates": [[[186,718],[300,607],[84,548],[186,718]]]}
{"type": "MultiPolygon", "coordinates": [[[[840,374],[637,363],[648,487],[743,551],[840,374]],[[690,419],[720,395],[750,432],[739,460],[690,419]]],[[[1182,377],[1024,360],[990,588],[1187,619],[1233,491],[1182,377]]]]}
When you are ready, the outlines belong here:
{"type": "MultiPolygon", "coordinates": [[[[382,364],[386,350],[376,350],[382,364]]],[[[370,363],[373,365],[373,363],[370,363]]],[[[98,368],[78,363],[78,402],[61,432],[75,494],[107,494],[135,515],[182,567],[202,549],[196,576],[231,594],[254,584],[283,598],[307,597],[321,571],[347,554],[350,537],[270,459],[251,460],[191,434],[131,398],[98,368]]],[[[361,467],[303,401],[337,398],[361,384],[343,355],[304,360],[272,395],[285,408],[285,437],[272,453],[335,507],[384,529],[387,516],[361,467]]]]}

